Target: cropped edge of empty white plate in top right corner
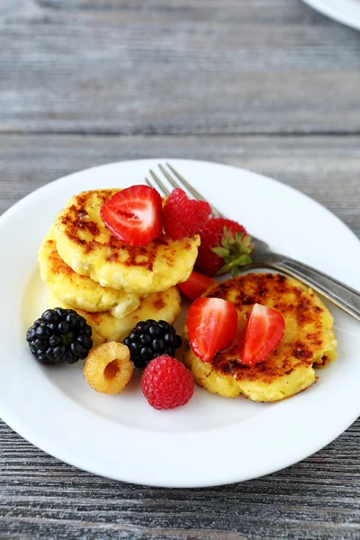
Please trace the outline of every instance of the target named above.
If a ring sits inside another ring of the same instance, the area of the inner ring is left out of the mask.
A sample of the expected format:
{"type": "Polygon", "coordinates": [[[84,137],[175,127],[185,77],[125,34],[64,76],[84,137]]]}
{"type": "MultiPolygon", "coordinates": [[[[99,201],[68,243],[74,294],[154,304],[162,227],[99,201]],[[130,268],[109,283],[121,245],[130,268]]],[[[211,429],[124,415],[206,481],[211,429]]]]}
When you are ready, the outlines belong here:
{"type": "Polygon", "coordinates": [[[338,23],[360,30],[360,0],[303,0],[338,23]]]}

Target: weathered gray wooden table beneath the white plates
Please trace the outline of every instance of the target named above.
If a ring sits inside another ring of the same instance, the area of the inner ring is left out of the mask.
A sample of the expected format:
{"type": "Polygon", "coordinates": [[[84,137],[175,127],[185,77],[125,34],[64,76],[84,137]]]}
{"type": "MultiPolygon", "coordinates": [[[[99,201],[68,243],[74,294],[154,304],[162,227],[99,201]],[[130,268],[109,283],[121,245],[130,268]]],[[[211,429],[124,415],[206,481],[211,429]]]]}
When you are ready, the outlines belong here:
{"type": "MultiPolygon", "coordinates": [[[[0,0],[0,211],[89,166],[192,157],[274,176],[360,236],[359,68],[360,33],[298,0],[0,0]]],[[[360,421],[281,473],[189,491],[0,430],[1,539],[360,538],[360,421]]]]}

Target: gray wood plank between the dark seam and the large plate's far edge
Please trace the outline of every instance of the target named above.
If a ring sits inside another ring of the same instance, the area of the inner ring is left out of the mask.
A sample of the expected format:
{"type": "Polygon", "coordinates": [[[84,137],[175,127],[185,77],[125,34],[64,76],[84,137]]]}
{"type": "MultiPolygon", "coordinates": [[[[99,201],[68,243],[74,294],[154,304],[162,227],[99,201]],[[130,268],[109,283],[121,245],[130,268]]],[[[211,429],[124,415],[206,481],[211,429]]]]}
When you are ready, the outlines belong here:
{"type": "Polygon", "coordinates": [[[184,157],[242,166],[293,185],[360,236],[360,137],[107,137],[0,134],[0,211],[40,185],[90,166],[184,157]]]}

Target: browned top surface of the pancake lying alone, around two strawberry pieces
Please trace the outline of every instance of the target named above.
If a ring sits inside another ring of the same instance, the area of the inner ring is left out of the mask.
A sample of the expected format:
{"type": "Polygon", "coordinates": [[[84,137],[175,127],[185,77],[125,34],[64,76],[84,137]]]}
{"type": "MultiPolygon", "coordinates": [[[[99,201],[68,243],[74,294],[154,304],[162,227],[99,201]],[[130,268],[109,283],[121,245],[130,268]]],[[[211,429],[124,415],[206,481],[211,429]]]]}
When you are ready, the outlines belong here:
{"type": "Polygon", "coordinates": [[[327,358],[319,353],[326,348],[324,340],[329,337],[331,316],[319,297],[299,282],[279,274],[249,274],[216,285],[207,296],[228,300],[238,311],[236,343],[212,360],[213,368],[221,374],[273,383],[276,377],[291,374],[300,365],[327,363],[327,358]],[[264,362],[247,366],[239,362],[239,350],[247,317],[255,303],[280,311],[285,332],[279,346],[264,362]]]}

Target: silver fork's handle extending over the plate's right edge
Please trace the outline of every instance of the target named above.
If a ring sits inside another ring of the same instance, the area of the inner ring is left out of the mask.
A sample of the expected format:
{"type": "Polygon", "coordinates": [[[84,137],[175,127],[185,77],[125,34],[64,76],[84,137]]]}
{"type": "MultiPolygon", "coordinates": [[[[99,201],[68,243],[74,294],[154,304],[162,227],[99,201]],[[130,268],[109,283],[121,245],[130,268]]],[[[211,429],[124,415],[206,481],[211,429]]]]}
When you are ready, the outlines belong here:
{"type": "Polygon", "coordinates": [[[286,275],[301,280],[304,284],[309,285],[311,289],[337,305],[338,308],[360,320],[360,293],[346,284],[342,284],[337,279],[320,272],[320,270],[304,265],[293,258],[275,253],[271,255],[270,260],[266,258],[266,263],[257,264],[256,266],[266,266],[274,270],[280,270],[286,275]]]}

